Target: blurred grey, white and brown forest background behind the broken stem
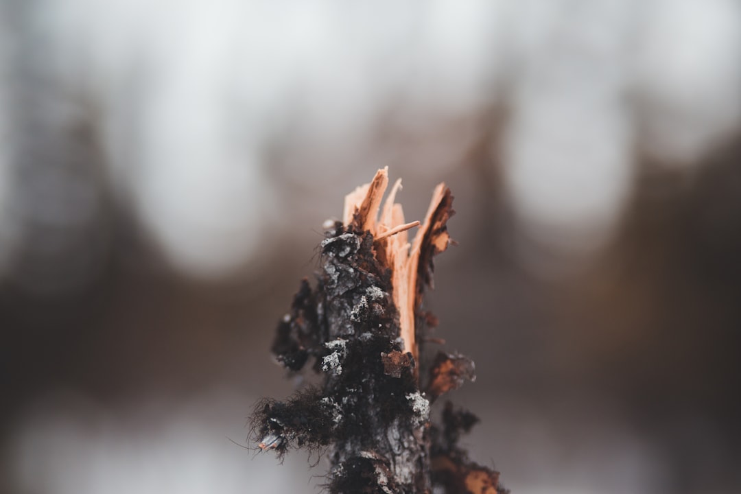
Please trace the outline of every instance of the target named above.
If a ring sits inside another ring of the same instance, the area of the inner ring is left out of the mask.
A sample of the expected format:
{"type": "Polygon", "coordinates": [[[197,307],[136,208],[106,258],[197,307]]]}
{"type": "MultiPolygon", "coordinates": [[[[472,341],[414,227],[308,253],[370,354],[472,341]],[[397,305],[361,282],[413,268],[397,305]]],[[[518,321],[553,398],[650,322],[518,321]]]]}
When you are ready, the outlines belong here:
{"type": "MultiPolygon", "coordinates": [[[[741,490],[735,0],[0,0],[0,491],[319,492],[245,446],[321,224],[453,190],[516,494],[741,490]]],[[[312,476],[314,475],[314,476],[312,476]]]]}

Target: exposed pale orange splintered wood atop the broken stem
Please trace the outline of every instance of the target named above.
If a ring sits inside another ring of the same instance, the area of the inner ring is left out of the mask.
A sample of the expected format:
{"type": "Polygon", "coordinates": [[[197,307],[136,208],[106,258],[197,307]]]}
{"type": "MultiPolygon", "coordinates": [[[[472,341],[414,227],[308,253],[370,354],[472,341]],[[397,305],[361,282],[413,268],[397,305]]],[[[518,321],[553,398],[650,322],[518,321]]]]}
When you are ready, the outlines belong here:
{"type": "Polygon", "coordinates": [[[388,167],[378,170],[371,183],[361,185],[345,196],[343,223],[345,227],[368,230],[373,235],[379,258],[391,269],[393,303],[399,310],[404,348],[416,360],[419,358],[419,347],[416,344],[414,316],[422,304],[425,284],[431,284],[432,276],[428,273],[431,258],[445,251],[450,244],[445,222],[452,213],[452,196],[445,184],[435,188],[425,221],[410,244],[407,230],[420,223],[405,223],[402,205],[396,203],[396,193],[402,188],[401,178],[391,187],[379,217],[386,187],[388,167]]]}

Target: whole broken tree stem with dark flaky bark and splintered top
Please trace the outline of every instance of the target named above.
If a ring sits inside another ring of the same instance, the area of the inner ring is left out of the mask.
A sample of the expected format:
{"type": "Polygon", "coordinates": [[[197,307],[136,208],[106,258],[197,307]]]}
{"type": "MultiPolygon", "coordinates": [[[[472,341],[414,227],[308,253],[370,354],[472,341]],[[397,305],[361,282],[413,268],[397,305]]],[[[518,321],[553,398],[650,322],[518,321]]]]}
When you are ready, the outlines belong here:
{"type": "Polygon", "coordinates": [[[504,493],[499,473],[459,448],[476,419],[439,395],[473,381],[473,361],[439,352],[420,365],[420,342],[436,318],[422,311],[433,257],[451,243],[451,191],[439,184],[424,221],[406,222],[397,180],[382,206],[388,168],[345,197],[342,222],[327,225],[316,287],[303,280],[272,351],[291,373],[312,360],[323,375],[287,401],[265,399],[252,416],[260,450],[328,452],[330,494],[504,493]],[[413,241],[408,232],[419,226],[413,241]]]}

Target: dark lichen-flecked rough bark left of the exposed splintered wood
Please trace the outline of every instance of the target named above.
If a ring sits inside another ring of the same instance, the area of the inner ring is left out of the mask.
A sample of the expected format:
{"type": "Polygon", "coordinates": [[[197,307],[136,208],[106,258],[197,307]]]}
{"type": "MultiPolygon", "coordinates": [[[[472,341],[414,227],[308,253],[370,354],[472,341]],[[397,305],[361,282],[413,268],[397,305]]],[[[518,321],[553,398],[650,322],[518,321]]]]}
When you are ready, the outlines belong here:
{"type": "Polygon", "coordinates": [[[255,426],[260,447],[278,453],[332,444],[330,492],[423,493],[429,402],[402,353],[390,273],[372,247],[370,233],[339,223],[328,231],[316,289],[302,281],[273,344],[293,372],[312,356],[324,385],[286,403],[265,401],[255,426]]]}

